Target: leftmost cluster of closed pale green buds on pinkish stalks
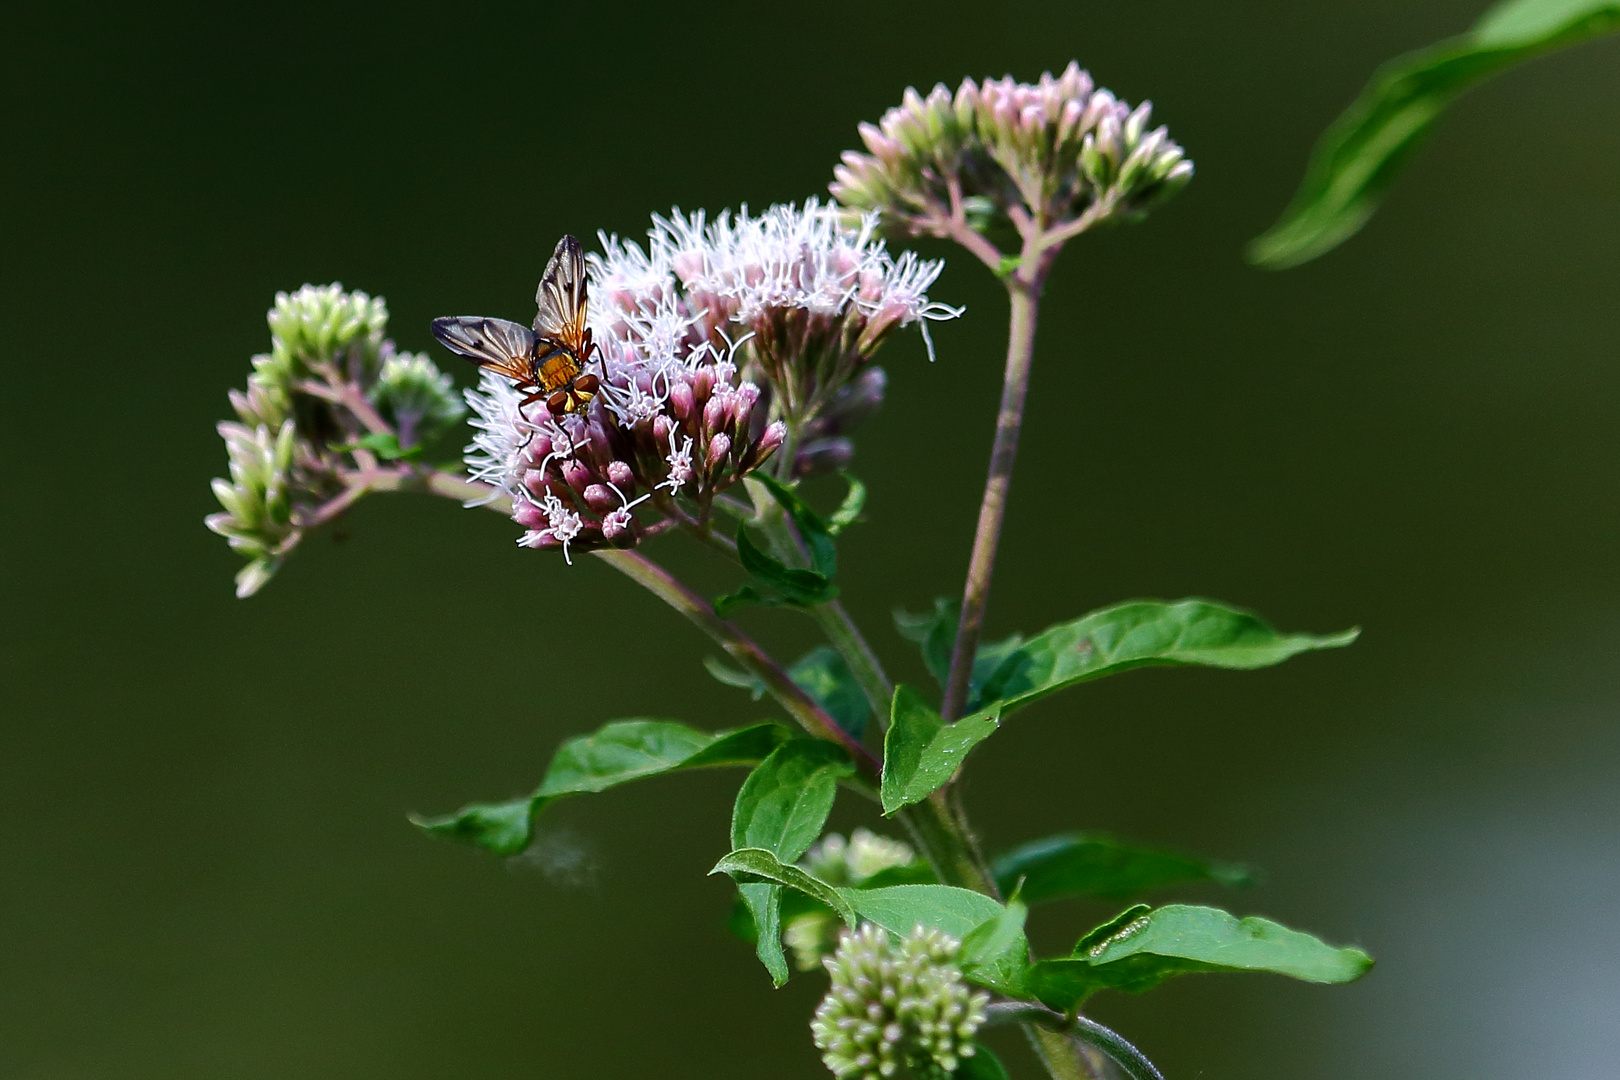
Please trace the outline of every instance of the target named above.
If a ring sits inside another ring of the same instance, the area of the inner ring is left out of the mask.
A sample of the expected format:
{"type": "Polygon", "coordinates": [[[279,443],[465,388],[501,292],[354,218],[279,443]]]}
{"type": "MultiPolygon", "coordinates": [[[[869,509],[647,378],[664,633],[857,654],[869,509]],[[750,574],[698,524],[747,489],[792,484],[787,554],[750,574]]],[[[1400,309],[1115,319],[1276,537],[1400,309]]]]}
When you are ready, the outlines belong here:
{"type": "Polygon", "coordinates": [[[271,351],[253,358],[248,389],[230,392],[238,419],[219,424],[230,460],[230,479],[214,481],[224,512],[204,520],[248,559],[237,596],[262,588],[309,513],[343,491],[356,439],[392,426],[382,445],[405,455],[462,418],[449,377],[395,351],[387,319],[381,296],[342,285],[275,295],[271,351]]]}

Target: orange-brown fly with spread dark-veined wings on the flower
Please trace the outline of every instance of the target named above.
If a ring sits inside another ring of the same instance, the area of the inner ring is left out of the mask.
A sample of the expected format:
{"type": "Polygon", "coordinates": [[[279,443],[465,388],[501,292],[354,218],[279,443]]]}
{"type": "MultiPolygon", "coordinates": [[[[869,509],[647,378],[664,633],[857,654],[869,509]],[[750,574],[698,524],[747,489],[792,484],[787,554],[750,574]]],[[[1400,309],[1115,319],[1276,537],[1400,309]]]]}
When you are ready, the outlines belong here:
{"type": "Polygon", "coordinates": [[[601,379],[585,374],[585,364],[601,348],[585,325],[585,251],[573,236],[557,241],[546,274],[539,279],[535,329],[507,319],[446,316],[433,321],[433,335],[452,353],[530,390],[518,408],[541,398],[554,416],[583,413],[601,389],[601,379]]]}

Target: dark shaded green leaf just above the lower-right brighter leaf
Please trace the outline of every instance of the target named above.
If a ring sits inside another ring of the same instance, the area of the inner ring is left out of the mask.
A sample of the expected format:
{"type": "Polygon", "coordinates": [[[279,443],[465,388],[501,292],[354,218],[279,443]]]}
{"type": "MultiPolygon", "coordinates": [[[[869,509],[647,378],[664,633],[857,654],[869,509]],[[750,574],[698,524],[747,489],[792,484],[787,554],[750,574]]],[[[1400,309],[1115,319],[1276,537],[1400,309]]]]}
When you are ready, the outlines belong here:
{"type": "Polygon", "coordinates": [[[1132,847],[1102,832],[1066,832],[1030,840],[998,857],[991,873],[1003,892],[1024,882],[1022,897],[1029,904],[1082,895],[1119,900],[1187,881],[1223,886],[1254,881],[1244,866],[1132,847]]]}

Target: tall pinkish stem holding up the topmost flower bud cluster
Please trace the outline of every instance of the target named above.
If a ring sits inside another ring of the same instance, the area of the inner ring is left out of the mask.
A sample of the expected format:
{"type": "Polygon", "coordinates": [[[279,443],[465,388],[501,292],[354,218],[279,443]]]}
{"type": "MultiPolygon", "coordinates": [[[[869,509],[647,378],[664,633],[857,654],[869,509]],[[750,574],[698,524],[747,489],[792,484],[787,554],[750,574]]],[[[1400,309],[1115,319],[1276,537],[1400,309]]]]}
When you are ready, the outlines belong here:
{"type": "Polygon", "coordinates": [[[1001,413],[996,416],[996,439],[990,450],[990,478],[978,507],[974,554],[967,563],[967,585],[962,589],[962,617],[956,625],[951,674],[944,683],[944,703],[940,709],[948,721],[959,717],[967,703],[974,656],[978,653],[978,638],[985,627],[990,576],[995,572],[996,546],[1001,541],[1001,523],[1006,518],[1008,487],[1013,484],[1017,436],[1024,424],[1024,398],[1029,393],[1029,369],[1035,355],[1035,316],[1040,308],[1042,277],[1045,274],[1040,269],[1024,266],[1008,279],[1013,311],[1008,325],[1008,364],[1001,382],[1001,413]]]}

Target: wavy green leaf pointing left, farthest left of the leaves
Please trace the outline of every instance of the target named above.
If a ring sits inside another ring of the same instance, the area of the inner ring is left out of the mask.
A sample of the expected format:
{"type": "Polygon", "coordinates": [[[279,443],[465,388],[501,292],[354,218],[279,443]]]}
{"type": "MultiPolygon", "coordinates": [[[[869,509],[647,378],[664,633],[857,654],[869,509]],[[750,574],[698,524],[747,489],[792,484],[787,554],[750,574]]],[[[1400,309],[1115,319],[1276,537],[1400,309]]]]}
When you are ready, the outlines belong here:
{"type": "Polygon", "coordinates": [[[674,721],[612,721],[562,743],[535,793],[505,803],[473,803],[442,818],[413,816],[424,832],[463,840],[496,855],[528,847],[535,814],[554,798],[604,792],[677,769],[758,764],[791,738],[779,724],[700,732],[674,721]]]}

